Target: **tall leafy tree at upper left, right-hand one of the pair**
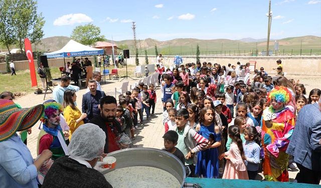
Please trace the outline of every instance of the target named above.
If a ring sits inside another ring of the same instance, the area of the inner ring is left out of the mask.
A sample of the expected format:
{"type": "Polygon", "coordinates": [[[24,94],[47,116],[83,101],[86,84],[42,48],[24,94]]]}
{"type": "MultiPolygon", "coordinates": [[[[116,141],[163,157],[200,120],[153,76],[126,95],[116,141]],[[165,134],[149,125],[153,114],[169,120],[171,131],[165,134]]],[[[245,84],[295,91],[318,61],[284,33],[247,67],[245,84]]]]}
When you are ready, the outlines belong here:
{"type": "Polygon", "coordinates": [[[30,38],[30,42],[38,44],[44,37],[42,30],[45,21],[42,14],[37,14],[36,0],[13,0],[13,21],[12,28],[17,39],[18,46],[22,51],[24,49],[25,38],[30,38]]]}

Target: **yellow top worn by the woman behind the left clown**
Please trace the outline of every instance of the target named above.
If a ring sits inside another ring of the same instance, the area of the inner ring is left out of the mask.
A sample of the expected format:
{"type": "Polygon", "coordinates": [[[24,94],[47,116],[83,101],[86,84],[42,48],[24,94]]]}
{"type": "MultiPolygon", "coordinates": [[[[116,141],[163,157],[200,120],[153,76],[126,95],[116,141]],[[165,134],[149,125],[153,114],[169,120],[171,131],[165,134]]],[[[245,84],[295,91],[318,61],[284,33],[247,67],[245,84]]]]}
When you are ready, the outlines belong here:
{"type": "Polygon", "coordinates": [[[67,106],[64,110],[64,117],[69,126],[69,140],[71,140],[72,133],[82,124],[84,121],[81,120],[78,123],[76,120],[80,117],[81,111],[76,107],[76,110],[72,109],[70,106],[67,106]]]}

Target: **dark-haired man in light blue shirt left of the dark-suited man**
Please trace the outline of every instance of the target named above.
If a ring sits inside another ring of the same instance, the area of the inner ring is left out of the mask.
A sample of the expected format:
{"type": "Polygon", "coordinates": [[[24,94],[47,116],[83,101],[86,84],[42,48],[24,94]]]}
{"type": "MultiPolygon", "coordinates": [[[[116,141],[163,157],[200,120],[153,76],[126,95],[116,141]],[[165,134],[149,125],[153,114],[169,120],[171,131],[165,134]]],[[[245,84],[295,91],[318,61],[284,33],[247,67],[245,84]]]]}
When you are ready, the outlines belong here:
{"type": "Polygon", "coordinates": [[[64,102],[64,92],[68,89],[79,91],[78,86],[73,86],[70,84],[70,77],[67,75],[63,75],[61,77],[60,84],[55,87],[55,89],[52,92],[53,98],[56,102],[62,104],[64,102]]]}

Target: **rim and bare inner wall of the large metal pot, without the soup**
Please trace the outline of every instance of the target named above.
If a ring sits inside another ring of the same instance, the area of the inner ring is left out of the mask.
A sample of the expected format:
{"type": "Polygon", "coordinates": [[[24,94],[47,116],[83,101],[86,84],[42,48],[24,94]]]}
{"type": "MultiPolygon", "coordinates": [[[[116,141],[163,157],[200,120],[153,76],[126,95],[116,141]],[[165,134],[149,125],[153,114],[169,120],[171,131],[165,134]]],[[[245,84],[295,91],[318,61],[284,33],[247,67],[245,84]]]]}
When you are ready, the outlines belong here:
{"type": "MultiPolygon", "coordinates": [[[[186,171],[182,162],[172,153],[155,148],[128,148],[108,153],[117,159],[116,168],[129,166],[150,166],[168,171],[174,175],[181,183],[185,182],[186,171]]],[[[106,174],[112,169],[102,172],[106,174]]]]}

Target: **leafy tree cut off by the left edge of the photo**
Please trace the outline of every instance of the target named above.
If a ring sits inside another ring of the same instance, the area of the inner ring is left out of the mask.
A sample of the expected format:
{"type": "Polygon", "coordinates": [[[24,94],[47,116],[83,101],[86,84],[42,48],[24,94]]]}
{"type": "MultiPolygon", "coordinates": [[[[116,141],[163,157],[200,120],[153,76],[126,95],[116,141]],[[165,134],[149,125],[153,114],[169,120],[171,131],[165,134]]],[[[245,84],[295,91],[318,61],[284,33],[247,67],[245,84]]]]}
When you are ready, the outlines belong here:
{"type": "Polygon", "coordinates": [[[9,53],[9,46],[16,42],[16,36],[14,35],[14,29],[12,27],[13,3],[14,1],[11,0],[0,1],[0,43],[7,47],[9,53]]]}

